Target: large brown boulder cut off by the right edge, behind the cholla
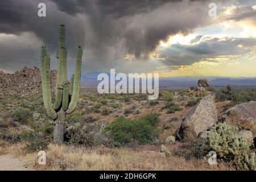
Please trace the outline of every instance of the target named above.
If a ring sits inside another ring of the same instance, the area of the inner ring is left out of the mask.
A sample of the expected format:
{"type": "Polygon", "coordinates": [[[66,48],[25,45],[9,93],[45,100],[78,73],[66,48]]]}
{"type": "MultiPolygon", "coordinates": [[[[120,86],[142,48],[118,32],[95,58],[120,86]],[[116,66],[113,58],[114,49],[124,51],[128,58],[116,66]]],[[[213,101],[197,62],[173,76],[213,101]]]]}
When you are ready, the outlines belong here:
{"type": "Polygon", "coordinates": [[[250,130],[256,134],[256,101],[238,104],[225,112],[219,119],[228,125],[236,126],[240,130],[250,130]]]}

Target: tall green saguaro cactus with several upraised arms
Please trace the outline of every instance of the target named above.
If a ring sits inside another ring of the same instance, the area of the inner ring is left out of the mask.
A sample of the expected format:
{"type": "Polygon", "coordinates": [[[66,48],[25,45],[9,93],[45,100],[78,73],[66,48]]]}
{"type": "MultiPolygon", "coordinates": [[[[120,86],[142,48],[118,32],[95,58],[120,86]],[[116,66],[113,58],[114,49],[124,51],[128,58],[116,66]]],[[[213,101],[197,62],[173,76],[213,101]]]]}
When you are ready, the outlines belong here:
{"type": "Polygon", "coordinates": [[[61,24],[54,104],[52,104],[51,96],[50,57],[47,55],[46,47],[43,46],[41,48],[43,101],[47,114],[54,121],[53,140],[55,143],[63,143],[66,114],[71,114],[76,109],[80,94],[82,47],[79,46],[77,50],[75,75],[71,76],[71,82],[69,84],[67,81],[67,48],[64,45],[65,26],[61,24]]]}

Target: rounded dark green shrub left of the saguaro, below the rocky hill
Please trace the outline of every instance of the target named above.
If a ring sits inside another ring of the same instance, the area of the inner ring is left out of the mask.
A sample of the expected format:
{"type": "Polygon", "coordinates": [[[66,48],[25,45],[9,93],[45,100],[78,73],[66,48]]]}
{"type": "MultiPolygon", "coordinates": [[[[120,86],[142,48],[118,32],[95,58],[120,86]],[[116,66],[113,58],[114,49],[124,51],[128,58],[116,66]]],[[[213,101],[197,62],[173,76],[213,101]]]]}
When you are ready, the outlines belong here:
{"type": "Polygon", "coordinates": [[[19,107],[13,111],[12,118],[14,121],[26,125],[28,122],[32,121],[32,113],[30,109],[19,107]]]}

